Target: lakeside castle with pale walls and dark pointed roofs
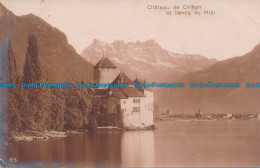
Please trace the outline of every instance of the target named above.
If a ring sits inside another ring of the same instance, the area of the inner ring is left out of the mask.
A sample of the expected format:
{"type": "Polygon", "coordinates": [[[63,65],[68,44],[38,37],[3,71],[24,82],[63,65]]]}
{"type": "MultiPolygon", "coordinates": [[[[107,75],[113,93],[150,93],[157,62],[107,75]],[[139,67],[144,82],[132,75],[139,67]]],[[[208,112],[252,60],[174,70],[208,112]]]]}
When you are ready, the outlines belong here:
{"type": "Polygon", "coordinates": [[[122,112],[123,124],[127,128],[145,128],[153,125],[153,92],[147,88],[136,88],[107,57],[94,66],[94,80],[99,83],[128,84],[128,87],[96,88],[95,95],[102,98],[106,114],[122,112]]]}

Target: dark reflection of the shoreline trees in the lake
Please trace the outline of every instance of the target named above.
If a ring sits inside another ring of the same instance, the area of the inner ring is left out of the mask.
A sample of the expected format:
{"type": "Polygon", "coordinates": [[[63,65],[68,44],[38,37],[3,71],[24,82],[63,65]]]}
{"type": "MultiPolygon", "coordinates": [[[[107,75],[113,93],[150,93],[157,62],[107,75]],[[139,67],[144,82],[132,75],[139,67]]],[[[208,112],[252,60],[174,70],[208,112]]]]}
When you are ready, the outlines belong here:
{"type": "Polygon", "coordinates": [[[85,166],[121,164],[121,131],[90,132],[47,141],[16,142],[9,148],[9,157],[18,162],[78,163],[85,166]]]}

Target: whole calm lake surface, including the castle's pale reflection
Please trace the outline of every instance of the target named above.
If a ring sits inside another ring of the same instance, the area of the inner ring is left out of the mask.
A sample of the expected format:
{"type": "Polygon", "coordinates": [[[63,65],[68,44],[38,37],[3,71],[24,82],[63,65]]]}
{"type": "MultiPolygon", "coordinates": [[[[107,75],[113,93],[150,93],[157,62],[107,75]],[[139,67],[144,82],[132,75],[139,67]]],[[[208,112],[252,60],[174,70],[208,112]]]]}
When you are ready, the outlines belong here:
{"type": "Polygon", "coordinates": [[[161,121],[155,131],[15,142],[19,167],[260,166],[260,120],[161,121]]]}

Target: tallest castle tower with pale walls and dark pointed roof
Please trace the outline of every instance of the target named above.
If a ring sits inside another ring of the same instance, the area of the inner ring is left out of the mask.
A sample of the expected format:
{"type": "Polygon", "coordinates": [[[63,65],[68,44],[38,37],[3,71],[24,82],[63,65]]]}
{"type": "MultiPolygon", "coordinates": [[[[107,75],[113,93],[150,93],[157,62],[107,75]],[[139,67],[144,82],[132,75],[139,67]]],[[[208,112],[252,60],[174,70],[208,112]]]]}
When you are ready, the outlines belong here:
{"type": "Polygon", "coordinates": [[[99,83],[112,83],[120,74],[120,69],[107,57],[103,57],[94,66],[94,81],[99,83]]]}

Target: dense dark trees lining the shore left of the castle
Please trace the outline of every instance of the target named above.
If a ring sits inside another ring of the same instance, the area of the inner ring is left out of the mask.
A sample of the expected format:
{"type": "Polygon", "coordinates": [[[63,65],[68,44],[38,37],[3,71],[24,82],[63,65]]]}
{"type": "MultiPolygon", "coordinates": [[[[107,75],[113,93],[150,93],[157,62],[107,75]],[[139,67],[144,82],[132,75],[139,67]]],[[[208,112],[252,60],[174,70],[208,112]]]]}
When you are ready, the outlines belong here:
{"type": "MultiPolygon", "coordinates": [[[[16,87],[8,91],[8,128],[10,133],[45,130],[82,130],[98,125],[121,126],[120,107],[115,116],[102,113],[102,102],[86,88],[23,88],[21,83],[44,82],[35,36],[28,37],[23,77],[16,70],[16,60],[9,45],[9,82],[16,87]],[[120,119],[119,119],[120,118],[120,119]]],[[[46,83],[46,82],[44,82],[46,83]]]]}

